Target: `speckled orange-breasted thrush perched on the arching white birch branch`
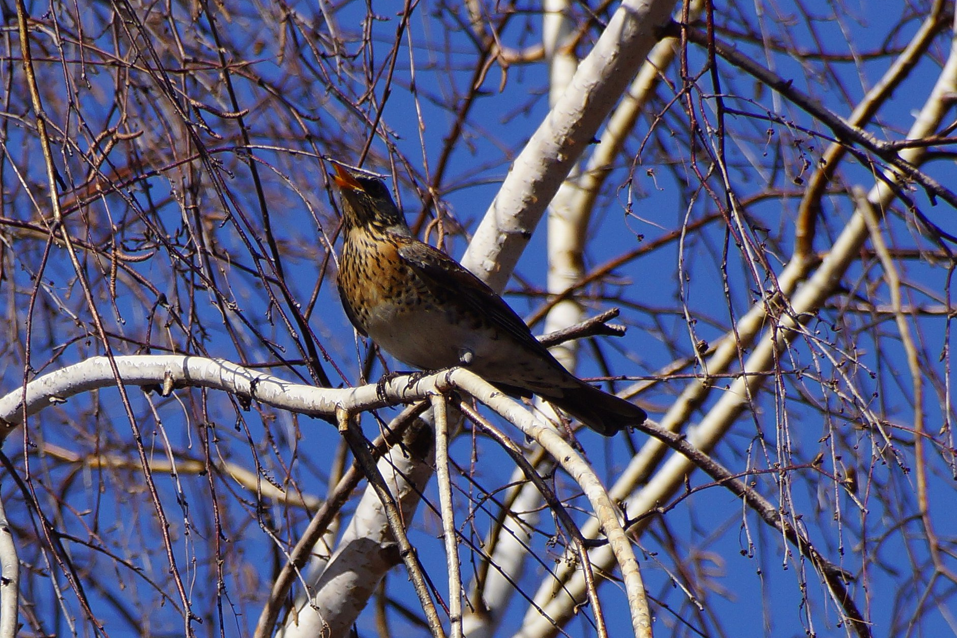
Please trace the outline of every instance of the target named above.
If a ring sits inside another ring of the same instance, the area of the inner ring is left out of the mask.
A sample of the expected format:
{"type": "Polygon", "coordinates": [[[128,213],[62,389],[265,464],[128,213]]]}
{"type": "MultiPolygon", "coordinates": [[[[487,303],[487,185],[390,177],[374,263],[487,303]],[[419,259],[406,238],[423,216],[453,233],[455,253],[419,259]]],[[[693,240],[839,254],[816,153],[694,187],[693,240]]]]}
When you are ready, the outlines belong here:
{"type": "Polygon", "coordinates": [[[416,239],[382,180],[333,167],[345,236],[337,284],[361,335],[420,370],[461,365],[506,394],[537,394],[605,436],[644,423],[643,409],[573,375],[485,282],[416,239]]]}

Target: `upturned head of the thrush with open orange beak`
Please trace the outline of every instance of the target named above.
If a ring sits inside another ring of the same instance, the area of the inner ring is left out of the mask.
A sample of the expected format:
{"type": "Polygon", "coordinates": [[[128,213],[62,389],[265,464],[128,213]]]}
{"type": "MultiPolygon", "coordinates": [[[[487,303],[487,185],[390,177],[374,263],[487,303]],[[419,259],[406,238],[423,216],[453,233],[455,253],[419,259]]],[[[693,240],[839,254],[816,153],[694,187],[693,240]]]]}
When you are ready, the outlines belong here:
{"type": "Polygon", "coordinates": [[[332,181],[342,194],[345,228],[372,227],[409,233],[406,218],[392,201],[382,180],[367,177],[341,165],[334,165],[332,181]]]}

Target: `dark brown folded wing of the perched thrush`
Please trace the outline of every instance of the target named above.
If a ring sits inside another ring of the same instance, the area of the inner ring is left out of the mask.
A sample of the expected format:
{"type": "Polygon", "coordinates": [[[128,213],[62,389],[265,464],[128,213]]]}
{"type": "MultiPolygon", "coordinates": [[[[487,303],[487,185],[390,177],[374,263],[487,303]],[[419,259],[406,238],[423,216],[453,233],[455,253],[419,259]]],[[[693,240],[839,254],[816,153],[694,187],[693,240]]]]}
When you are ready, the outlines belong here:
{"type": "Polygon", "coordinates": [[[401,242],[398,253],[434,293],[464,303],[479,316],[486,313],[491,315],[517,341],[551,358],[548,349],[535,339],[528,325],[511,306],[455,259],[417,239],[401,242]]]}

